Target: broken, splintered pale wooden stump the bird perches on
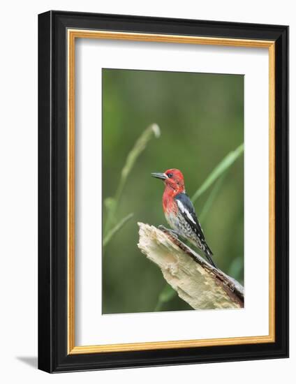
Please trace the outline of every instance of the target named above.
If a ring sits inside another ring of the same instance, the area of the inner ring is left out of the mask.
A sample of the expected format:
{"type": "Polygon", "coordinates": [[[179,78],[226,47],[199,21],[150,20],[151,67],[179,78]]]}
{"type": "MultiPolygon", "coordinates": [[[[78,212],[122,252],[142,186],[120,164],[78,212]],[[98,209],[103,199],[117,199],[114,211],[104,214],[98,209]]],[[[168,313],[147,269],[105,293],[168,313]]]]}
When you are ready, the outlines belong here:
{"type": "Polygon", "coordinates": [[[138,247],[161,268],[164,279],[193,309],[244,307],[244,288],[165,228],[138,223],[138,247]]]}

